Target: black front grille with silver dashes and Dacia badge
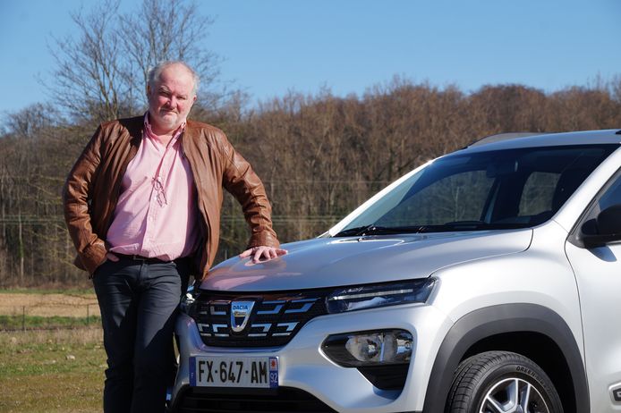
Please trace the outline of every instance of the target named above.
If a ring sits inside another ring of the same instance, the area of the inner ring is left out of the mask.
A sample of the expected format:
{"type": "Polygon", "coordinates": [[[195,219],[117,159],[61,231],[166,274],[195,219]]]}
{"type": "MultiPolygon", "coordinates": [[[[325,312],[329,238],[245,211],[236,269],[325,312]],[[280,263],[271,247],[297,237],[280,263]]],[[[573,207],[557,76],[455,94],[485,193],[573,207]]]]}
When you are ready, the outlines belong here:
{"type": "Polygon", "coordinates": [[[326,290],[268,294],[199,291],[188,312],[208,346],[276,347],[291,341],[311,318],[328,314],[328,293],[326,290]],[[232,317],[233,308],[240,306],[246,308],[244,311],[249,316],[242,313],[232,317]]]}

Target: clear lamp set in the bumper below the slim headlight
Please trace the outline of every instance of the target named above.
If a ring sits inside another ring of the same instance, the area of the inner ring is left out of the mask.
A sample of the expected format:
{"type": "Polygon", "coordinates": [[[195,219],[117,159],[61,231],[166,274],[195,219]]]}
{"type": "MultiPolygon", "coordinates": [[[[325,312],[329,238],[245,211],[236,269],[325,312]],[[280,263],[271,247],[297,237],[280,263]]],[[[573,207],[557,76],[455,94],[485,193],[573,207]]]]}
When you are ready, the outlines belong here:
{"type": "Polygon", "coordinates": [[[413,336],[404,330],[380,330],[330,335],[321,346],[328,358],[343,367],[407,364],[413,336]]]}

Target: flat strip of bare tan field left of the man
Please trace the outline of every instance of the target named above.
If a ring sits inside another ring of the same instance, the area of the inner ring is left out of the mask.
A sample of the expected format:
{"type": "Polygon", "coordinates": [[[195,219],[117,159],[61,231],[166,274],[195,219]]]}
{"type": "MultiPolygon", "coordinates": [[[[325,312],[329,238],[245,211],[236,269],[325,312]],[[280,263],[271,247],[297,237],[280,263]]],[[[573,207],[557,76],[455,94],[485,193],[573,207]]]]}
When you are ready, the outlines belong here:
{"type": "Polygon", "coordinates": [[[95,294],[35,294],[0,292],[0,315],[99,316],[95,294]]]}

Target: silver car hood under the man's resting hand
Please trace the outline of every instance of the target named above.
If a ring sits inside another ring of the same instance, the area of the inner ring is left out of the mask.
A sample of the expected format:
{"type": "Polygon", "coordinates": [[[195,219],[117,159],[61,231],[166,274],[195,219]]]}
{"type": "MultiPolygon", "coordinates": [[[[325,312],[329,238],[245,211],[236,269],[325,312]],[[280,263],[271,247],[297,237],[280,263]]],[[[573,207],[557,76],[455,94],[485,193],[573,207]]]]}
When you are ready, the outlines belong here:
{"type": "Polygon", "coordinates": [[[212,268],[200,289],[285,291],[425,278],[448,265],[528,249],[532,230],[318,238],[284,244],[267,262],[234,257],[212,268]]]}

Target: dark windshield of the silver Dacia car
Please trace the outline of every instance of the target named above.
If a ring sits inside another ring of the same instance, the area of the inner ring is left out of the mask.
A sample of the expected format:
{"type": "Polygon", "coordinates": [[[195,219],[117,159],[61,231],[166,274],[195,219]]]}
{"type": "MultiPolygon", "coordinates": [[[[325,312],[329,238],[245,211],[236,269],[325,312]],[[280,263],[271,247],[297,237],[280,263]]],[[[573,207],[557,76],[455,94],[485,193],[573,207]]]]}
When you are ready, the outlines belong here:
{"type": "Polygon", "coordinates": [[[336,236],[525,228],[547,221],[617,145],[450,155],[415,173],[336,236]]]}

